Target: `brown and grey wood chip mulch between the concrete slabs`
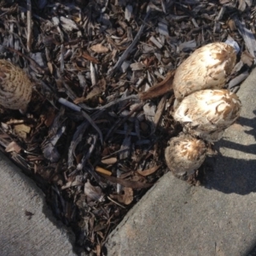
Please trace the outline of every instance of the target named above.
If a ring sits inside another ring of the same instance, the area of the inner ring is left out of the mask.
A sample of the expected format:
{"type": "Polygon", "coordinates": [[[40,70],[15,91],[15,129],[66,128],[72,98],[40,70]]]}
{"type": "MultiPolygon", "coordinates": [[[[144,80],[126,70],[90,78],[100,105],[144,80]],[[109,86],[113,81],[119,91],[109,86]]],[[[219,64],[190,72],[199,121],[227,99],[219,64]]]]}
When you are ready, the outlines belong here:
{"type": "Polygon", "coordinates": [[[79,254],[106,255],[110,232],[167,172],[164,149],[181,131],[173,71],[196,48],[235,40],[227,86],[238,90],[255,15],[250,0],[0,1],[0,58],[34,84],[25,115],[0,109],[1,150],[44,190],[79,254]]]}

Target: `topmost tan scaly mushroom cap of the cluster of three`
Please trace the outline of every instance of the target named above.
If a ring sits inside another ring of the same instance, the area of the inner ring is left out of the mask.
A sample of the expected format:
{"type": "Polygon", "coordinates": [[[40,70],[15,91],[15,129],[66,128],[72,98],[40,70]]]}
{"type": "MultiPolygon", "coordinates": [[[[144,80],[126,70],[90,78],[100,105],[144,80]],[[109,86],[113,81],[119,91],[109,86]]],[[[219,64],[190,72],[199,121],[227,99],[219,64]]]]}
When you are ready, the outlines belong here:
{"type": "Polygon", "coordinates": [[[177,100],[204,89],[221,89],[236,65],[236,50],[225,43],[212,43],[196,49],[177,67],[173,91],[177,100]]]}

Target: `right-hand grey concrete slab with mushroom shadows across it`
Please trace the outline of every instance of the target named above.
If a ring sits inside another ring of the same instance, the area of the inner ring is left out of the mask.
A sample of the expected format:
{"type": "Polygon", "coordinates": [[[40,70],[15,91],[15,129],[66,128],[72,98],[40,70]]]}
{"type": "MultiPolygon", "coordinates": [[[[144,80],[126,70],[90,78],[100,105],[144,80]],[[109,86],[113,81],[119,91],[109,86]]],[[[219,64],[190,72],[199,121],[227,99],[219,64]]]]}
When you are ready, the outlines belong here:
{"type": "Polygon", "coordinates": [[[108,255],[256,255],[256,69],[238,96],[241,118],[216,143],[203,185],[160,178],[113,230],[108,255]]]}

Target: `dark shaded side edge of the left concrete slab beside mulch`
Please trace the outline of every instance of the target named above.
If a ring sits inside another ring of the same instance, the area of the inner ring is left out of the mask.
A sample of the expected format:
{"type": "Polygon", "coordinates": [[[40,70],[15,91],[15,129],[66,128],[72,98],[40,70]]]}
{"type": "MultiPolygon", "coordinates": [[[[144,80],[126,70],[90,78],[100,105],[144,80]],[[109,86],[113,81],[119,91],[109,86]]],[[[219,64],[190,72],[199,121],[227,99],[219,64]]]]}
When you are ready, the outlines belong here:
{"type": "Polygon", "coordinates": [[[62,224],[60,220],[55,218],[52,210],[45,201],[45,195],[43,190],[38,187],[38,185],[32,180],[31,177],[28,177],[24,172],[22,172],[20,167],[16,166],[15,163],[12,160],[9,160],[9,158],[2,152],[0,152],[0,160],[3,161],[6,166],[10,166],[11,169],[15,171],[15,174],[19,176],[21,180],[27,183],[30,189],[32,189],[36,194],[38,194],[38,196],[41,198],[43,202],[42,212],[45,218],[48,218],[56,229],[61,230],[61,233],[67,237],[67,240],[72,245],[73,253],[78,254],[77,248],[74,245],[75,236],[73,234],[73,230],[71,230],[71,228],[68,228],[66,225],[62,224]]]}

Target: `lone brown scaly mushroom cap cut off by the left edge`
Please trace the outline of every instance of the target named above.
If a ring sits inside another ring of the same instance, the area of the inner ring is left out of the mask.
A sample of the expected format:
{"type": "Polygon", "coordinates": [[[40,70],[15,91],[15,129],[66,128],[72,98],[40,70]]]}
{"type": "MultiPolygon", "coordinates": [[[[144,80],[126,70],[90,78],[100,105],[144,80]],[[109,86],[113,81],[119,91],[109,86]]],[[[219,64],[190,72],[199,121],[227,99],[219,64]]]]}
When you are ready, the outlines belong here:
{"type": "Polygon", "coordinates": [[[0,60],[0,104],[25,112],[32,96],[32,82],[26,73],[9,61],[0,60]]]}

